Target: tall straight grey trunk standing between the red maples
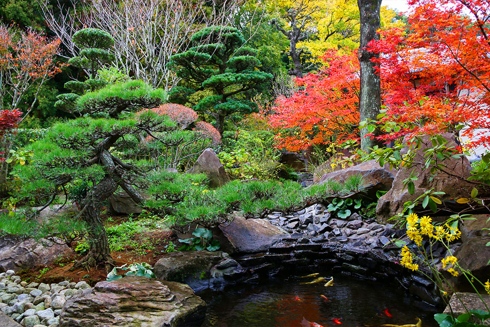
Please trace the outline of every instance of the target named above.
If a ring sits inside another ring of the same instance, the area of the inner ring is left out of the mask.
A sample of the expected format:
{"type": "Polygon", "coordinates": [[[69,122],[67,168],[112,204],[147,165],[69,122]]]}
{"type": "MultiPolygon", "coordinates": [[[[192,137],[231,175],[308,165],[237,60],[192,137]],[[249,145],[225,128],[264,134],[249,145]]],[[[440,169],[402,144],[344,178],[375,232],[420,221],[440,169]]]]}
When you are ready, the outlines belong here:
{"type": "MultiPolygon", "coordinates": [[[[361,86],[359,95],[360,120],[376,119],[381,110],[381,78],[376,74],[376,66],[371,59],[377,58],[378,54],[368,52],[366,46],[369,41],[377,39],[376,30],[381,26],[380,8],[381,0],[357,0],[359,12],[361,13],[361,44],[357,57],[361,66],[361,86]]],[[[365,137],[369,131],[361,129],[361,149],[369,151],[377,144],[375,139],[365,137]]]]}

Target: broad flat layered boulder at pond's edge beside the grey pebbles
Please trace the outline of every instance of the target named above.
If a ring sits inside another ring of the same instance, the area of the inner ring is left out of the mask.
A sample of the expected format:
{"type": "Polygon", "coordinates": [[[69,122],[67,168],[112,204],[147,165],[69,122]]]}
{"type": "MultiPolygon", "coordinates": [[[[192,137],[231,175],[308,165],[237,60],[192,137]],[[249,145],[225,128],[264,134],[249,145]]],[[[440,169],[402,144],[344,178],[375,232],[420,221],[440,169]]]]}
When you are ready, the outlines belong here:
{"type": "Polygon", "coordinates": [[[187,285],[127,276],[101,281],[63,306],[60,327],[200,326],[206,303],[187,285]]]}

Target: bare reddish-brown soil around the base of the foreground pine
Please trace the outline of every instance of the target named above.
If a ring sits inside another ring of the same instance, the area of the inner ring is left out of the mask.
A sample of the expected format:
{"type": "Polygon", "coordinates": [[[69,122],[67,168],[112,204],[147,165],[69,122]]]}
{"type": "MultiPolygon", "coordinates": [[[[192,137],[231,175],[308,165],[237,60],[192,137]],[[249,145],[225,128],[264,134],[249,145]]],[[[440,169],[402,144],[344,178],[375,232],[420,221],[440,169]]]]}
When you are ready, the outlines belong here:
{"type": "MultiPolygon", "coordinates": [[[[116,223],[117,224],[117,223],[116,223]]],[[[178,247],[179,242],[177,236],[171,231],[156,229],[143,232],[135,235],[136,244],[147,244],[151,246],[151,250],[145,250],[145,247],[132,248],[127,247],[121,252],[112,252],[111,255],[116,261],[116,266],[123,264],[131,264],[134,262],[147,262],[152,267],[166,252],[166,246],[170,241],[178,247]],[[153,249],[154,247],[154,249],[153,249]]],[[[63,257],[46,267],[37,267],[36,269],[25,269],[17,275],[28,282],[36,281],[43,283],[58,283],[64,280],[78,282],[85,280],[91,286],[94,286],[98,281],[105,280],[107,273],[104,267],[85,269],[73,269],[73,263],[81,259],[83,255],[76,253],[63,257]],[[42,273],[43,268],[46,272],[42,273]]],[[[120,271],[121,272],[121,271],[120,271]]]]}

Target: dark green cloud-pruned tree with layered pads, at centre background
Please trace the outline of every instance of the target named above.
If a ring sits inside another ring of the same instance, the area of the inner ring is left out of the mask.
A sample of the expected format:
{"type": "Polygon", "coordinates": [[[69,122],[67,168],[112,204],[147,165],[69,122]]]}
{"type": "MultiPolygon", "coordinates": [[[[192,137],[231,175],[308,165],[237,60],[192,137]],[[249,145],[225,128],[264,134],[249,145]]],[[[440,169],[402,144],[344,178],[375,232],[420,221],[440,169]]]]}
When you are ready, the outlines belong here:
{"type": "Polygon", "coordinates": [[[169,64],[192,88],[173,88],[171,97],[183,96],[193,103],[196,93],[210,91],[193,103],[193,109],[214,116],[222,135],[226,117],[258,111],[250,99],[272,75],[259,71],[256,50],[244,47],[245,39],[234,27],[206,27],[195,33],[191,42],[195,46],[173,55],[169,64]]]}

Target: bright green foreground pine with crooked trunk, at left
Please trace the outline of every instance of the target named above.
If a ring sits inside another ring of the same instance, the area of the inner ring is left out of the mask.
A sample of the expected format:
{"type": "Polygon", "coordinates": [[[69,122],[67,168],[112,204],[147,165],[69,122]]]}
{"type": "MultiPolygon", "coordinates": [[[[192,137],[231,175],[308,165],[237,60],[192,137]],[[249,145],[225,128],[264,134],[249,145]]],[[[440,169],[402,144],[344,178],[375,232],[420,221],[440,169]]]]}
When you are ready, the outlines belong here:
{"type": "Polygon", "coordinates": [[[78,202],[78,216],[86,223],[90,249],[76,267],[113,266],[99,215],[104,201],[120,187],[144,206],[144,199],[132,186],[143,168],[122,156],[124,149],[135,147],[141,134],[153,135],[172,125],[166,116],[150,111],[129,112],[155,107],[165,98],[163,90],[134,80],[86,93],[75,103],[84,117],[55,124],[29,147],[38,153],[36,159],[17,170],[25,181],[26,196],[38,201],[49,196],[46,208],[62,194],[60,190],[79,189],[73,201],[78,202]]]}

